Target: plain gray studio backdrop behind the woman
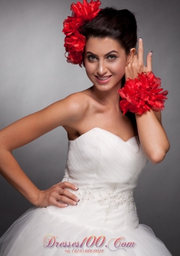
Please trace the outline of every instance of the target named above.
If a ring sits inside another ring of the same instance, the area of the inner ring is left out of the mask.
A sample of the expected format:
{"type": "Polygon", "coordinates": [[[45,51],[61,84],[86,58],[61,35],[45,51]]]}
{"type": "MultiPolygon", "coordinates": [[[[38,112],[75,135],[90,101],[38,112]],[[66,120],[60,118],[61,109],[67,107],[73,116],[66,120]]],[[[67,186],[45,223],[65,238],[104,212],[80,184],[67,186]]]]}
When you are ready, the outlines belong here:
{"type": "MultiPolygon", "coordinates": [[[[85,69],[64,57],[62,23],[71,0],[0,1],[0,129],[15,120],[81,91],[91,82],[85,69]]],[[[170,151],[158,165],[148,163],[136,188],[140,223],[152,228],[172,255],[179,255],[179,0],[102,0],[136,14],[145,55],[153,51],[153,71],[168,89],[162,120],[170,151]]],[[[24,172],[41,190],[63,177],[67,136],[62,127],[13,151],[24,172]]],[[[0,177],[0,236],[32,205],[0,177]]]]}

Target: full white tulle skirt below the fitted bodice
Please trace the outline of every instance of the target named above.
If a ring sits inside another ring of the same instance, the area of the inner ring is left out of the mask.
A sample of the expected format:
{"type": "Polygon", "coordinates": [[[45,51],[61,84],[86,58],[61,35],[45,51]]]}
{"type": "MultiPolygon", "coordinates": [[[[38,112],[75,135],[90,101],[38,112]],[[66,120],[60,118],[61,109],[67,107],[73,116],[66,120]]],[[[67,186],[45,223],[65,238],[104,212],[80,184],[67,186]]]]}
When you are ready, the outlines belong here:
{"type": "Polygon", "coordinates": [[[47,208],[32,207],[0,239],[1,256],[75,255],[172,255],[152,229],[89,228],[49,214],[47,208]]]}

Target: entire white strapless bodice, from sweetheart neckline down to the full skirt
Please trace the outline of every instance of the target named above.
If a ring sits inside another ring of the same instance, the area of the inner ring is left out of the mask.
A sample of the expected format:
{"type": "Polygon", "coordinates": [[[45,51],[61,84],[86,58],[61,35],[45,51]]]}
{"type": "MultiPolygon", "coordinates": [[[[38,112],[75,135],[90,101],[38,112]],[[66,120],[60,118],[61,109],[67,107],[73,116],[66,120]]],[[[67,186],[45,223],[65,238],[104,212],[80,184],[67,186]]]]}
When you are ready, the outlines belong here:
{"type": "Polygon", "coordinates": [[[96,228],[136,228],[139,222],[134,188],[147,161],[135,137],[125,142],[104,129],[91,129],[69,141],[62,179],[78,186],[77,191],[68,190],[80,198],[80,202],[76,207],[69,205],[60,210],[50,206],[49,211],[96,228]]]}

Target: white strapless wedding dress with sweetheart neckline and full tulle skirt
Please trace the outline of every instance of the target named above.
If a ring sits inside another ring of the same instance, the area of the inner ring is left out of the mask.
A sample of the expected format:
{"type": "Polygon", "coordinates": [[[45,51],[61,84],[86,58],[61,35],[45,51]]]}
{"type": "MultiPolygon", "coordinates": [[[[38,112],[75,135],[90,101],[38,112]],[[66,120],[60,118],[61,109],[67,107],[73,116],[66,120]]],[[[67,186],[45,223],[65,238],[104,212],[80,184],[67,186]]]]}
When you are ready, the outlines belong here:
{"type": "Polygon", "coordinates": [[[134,188],[148,160],[136,138],[127,142],[98,127],[69,141],[64,178],[78,205],[30,208],[1,237],[1,256],[172,255],[139,224],[134,188]]]}

